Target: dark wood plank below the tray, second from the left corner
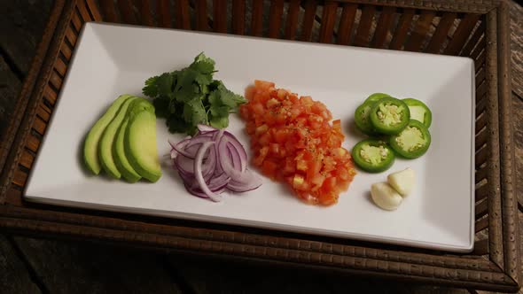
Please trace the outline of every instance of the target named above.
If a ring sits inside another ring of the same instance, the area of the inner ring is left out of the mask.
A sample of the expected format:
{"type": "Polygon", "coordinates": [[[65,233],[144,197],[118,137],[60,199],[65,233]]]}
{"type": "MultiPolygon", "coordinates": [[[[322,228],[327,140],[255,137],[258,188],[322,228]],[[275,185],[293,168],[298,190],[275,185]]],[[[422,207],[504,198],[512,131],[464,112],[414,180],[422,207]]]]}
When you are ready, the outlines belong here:
{"type": "Polygon", "coordinates": [[[155,253],[26,237],[14,242],[50,293],[182,292],[155,253]]]}

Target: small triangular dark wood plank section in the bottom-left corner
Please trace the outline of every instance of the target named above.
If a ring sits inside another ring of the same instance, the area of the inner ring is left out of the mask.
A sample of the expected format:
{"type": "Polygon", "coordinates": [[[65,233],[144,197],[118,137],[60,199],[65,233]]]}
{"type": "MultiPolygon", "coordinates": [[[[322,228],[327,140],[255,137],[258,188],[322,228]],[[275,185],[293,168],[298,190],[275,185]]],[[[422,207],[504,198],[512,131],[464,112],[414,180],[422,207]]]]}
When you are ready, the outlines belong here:
{"type": "Polygon", "coordinates": [[[4,235],[0,235],[0,285],[2,293],[42,293],[4,235]]]}

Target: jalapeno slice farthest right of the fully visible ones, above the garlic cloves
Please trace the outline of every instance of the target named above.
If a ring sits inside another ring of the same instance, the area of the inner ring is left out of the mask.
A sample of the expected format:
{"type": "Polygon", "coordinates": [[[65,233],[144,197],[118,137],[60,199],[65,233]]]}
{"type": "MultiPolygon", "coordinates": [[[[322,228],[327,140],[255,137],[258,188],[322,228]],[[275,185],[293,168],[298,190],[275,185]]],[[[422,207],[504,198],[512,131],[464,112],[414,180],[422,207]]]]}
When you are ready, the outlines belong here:
{"type": "Polygon", "coordinates": [[[410,120],[407,127],[389,138],[390,146],[406,159],[417,159],[425,154],[431,144],[428,128],[418,120],[410,120]]]}

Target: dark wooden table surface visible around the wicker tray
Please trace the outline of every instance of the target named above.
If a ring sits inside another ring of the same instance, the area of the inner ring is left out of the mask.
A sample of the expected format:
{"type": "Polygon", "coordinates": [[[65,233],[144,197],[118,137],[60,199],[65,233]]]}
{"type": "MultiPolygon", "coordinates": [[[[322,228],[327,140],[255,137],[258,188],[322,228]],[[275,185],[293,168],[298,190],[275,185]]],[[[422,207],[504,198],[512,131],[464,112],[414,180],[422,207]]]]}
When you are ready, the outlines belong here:
{"type": "MultiPolygon", "coordinates": [[[[53,0],[0,0],[0,134],[12,114],[53,0]]],[[[523,191],[523,9],[511,5],[513,123],[523,191]]],[[[523,230],[523,201],[519,220],[523,230]]],[[[521,234],[523,236],[523,232],[521,234]]],[[[0,293],[475,293],[294,268],[231,263],[87,242],[0,234],[0,293]]],[[[482,291],[480,291],[482,293],[482,291]]],[[[523,293],[520,290],[519,293],[523,293]]]]}

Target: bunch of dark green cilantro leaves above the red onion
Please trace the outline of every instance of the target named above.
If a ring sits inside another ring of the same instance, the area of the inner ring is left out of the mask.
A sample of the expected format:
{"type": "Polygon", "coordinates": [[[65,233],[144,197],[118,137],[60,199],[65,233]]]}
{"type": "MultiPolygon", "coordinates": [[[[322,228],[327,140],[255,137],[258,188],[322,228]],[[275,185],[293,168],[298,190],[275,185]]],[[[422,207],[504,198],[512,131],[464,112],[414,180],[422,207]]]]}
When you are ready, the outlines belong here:
{"type": "Polygon", "coordinates": [[[190,66],[145,81],[142,92],[152,97],[156,115],[165,118],[171,133],[196,133],[198,124],[229,126],[229,113],[246,99],[213,79],[215,60],[202,52],[190,66]]]}

